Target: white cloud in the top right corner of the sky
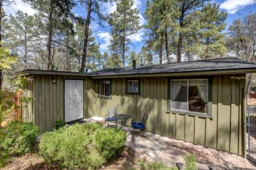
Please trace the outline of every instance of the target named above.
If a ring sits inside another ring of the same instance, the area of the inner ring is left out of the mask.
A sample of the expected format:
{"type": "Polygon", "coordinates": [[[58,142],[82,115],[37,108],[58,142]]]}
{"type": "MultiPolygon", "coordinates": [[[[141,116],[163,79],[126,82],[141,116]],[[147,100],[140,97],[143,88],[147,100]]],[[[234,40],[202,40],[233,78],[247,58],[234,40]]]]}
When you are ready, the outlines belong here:
{"type": "Polygon", "coordinates": [[[254,4],[255,2],[255,0],[226,0],[221,3],[220,8],[227,10],[227,12],[230,14],[233,14],[241,8],[250,4],[254,4]]]}

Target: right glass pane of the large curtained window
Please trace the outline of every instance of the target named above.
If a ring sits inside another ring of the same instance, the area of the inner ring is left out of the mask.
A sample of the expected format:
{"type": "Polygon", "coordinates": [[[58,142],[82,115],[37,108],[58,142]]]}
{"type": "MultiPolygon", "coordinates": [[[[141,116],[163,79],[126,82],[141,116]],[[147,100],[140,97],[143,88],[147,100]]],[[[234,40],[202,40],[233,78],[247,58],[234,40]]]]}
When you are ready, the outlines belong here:
{"type": "Polygon", "coordinates": [[[188,110],[207,113],[208,88],[207,80],[188,81],[188,110]]]}

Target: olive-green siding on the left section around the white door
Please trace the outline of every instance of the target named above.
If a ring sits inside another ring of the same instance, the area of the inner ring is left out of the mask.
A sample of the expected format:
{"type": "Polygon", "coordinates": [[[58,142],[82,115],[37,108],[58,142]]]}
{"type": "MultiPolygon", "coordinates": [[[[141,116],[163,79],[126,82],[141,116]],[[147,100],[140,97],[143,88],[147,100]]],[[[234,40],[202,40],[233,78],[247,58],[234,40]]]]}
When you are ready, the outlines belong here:
{"type": "MultiPolygon", "coordinates": [[[[62,75],[34,75],[34,81],[28,83],[23,89],[23,94],[32,97],[31,102],[23,102],[23,121],[33,122],[40,127],[40,132],[52,131],[54,123],[64,117],[64,82],[65,79],[84,80],[84,117],[87,112],[88,98],[86,83],[89,78],[79,76],[62,76],[62,75]],[[52,83],[52,79],[56,82],[52,83]],[[87,105],[87,104],[86,104],[87,105]]],[[[91,82],[91,78],[90,78],[91,82]]]]}

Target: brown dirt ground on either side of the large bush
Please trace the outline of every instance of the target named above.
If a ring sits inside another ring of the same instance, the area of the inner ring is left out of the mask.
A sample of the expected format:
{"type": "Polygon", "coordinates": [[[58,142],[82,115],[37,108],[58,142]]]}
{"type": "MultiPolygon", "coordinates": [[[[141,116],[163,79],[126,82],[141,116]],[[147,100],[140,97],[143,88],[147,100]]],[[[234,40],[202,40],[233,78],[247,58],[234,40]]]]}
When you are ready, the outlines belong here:
{"type": "MultiPolygon", "coordinates": [[[[130,155],[127,151],[123,151],[121,155],[115,160],[112,160],[100,168],[103,169],[136,169],[138,168],[138,157],[130,155]]],[[[1,170],[57,170],[59,167],[57,165],[49,166],[44,163],[43,158],[36,154],[26,154],[22,157],[12,158],[10,163],[2,168],[1,170]]]]}

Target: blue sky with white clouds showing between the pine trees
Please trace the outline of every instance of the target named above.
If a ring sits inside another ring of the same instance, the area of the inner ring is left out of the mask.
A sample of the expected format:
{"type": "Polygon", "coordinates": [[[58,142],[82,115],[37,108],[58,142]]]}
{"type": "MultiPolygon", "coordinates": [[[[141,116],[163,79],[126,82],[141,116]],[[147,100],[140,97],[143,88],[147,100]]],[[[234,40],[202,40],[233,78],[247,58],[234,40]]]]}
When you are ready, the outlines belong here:
{"type": "MultiPolygon", "coordinates": [[[[133,0],[134,5],[133,7],[137,7],[140,11],[140,24],[144,24],[146,20],[144,19],[144,10],[146,9],[146,0],[133,0]]],[[[35,13],[35,10],[31,9],[29,5],[24,4],[21,0],[15,0],[16,4],[12,5],[12,8],[5,7],[4,10],[9,14],[14,14],[17,10],[22,10],[23,12],[28,13],[29,15],[33,15],[35,13]]],[[[243,18],[244,15],[250,12],[256,11],[256,0],[212,0],[212,2],[215,2],[216,4],[220,5],[220,9],[224,10],[228,13],[227,16],[227,28],[232,23],[233,20],[238,18],[243,18]]],[[[101,12],[105,15],[115,11],[116,4],[114,2],[110,3],[104,3],[101,2],[101,12]]],[[[73,12],[76,13],[78,16],[85,16],[85,7],[75,7],[73,9],[73,12]]],[[[98,43],[101,43],[101,52],[107,51],[107,47],[110,44],[110,26],[107,24],[107,22],[102,22],[101,25],[98,24],[98,19],[96,18],[96,22],[91,22],[91,29],[93,29],[94,36],[96,37],[96,41],[98,43]]],[[[144,33],[143,29],[141,29],[136,35],[130,36],[130,39],[135,47],[130,47],[130,50],[134,50],[135,52],[139,52],[141,47],[144,43],[144,33]]]]}

